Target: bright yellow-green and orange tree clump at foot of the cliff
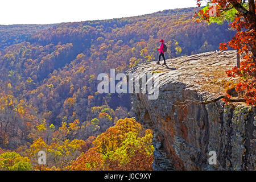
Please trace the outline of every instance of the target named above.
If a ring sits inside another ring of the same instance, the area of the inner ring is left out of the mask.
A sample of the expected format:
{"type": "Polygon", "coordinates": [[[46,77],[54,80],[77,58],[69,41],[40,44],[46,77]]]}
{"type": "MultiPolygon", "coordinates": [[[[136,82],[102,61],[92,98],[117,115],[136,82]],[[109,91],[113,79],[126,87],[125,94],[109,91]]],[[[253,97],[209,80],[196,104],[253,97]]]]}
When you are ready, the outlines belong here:
{"type": "Polygon", "coordinates": [[[70,169],[151,170],[152,137],[152,130],[144,131],[134,118],[119,119],[96,139],[86,140],[82,146],[86,152],[71,164],[70,169]]]}

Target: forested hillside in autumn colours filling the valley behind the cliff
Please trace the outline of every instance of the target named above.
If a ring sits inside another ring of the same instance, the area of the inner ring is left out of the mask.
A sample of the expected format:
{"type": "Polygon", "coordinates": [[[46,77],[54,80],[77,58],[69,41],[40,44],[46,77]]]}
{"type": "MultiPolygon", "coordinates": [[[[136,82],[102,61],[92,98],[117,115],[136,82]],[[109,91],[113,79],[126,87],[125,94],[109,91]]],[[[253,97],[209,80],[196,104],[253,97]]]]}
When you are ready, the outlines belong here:
{"type": "Polygon", "coordinates": [[[129,94],[99,94],[97,75],[156,60],[160,38],[166,41],[167,58],[215,51],[232,38],[228,23],[197,23],[192,19],[197,10],[54,26],[0,26],[0,168],[15,168],[6,163],[10,156],[36,168],[42,149],[49,156],[44,169],[81,169],[81,160],[98,165],[86,169],[134,169],[129,162],[138,158],[152,163],[151,131],[127,119],[133,117],[129,94]],[[131,129],[124,131],[121,122],[131,129]],[[112,148],[106,142],[110,137],[112,148]],[[130,140],[137,144],[130,146],[130,140]],[[129,152],[125,159],[124,152],[129,152]],[[97,155],[98,163],[92,159],[97,155]]]}

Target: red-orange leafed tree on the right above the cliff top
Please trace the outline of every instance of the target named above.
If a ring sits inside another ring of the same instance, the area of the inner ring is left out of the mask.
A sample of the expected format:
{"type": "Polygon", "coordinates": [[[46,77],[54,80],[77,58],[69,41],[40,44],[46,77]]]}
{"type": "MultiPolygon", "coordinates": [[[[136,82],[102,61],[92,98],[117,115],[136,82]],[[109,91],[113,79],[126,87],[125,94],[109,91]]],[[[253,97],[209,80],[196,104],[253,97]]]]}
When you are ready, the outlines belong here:
{"type": "MultiPolygon", "coordinates": [[[[256,18],[255,18],[255,1],[254,0],[207,0],[212,5],[207,10],[199,10],[194,17],[207,20],[210,18],[214,9],[217,18],[226,16],[226,12],[236,9],[230,27],[236,30],[236,35],[228,43],[221,43],[220,50],[228,49],[228,46],[237,49],[242,54],[243,60],[240,68],[235,66],[233,69],[226,71],[229,77],[240,77],[240,82],[236,86],[237,92],[242,93],[247,104],[255,105],[256,103],[256,18]]],[[[201,0],[197,0],[197,5],[201,6],[201,0]]],[[[228,94],[227,98],[230,98],[228,94]]],[[[229,99],[226,99],[228,101],[229,99]]]]}

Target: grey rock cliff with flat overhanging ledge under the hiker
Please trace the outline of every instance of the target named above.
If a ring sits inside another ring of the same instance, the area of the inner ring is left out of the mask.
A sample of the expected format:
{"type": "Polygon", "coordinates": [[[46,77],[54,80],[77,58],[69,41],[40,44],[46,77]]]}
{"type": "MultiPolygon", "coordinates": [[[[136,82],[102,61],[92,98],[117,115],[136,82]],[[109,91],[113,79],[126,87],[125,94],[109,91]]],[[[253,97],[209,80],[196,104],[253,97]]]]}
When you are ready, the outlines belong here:
{"type": "Polygon", "coordinates": [[[236,52],[207,52],[139,64],[127,73],[159,77],[159,97],[132,94],[137,121],[154,131],[155,170],[255,170],[256,109],[242,103],[207,105],[196,100],[224,93],[224,70],[236,65],[236,52]],[[209,164],[216,151],[217,164],[209,164]]]}

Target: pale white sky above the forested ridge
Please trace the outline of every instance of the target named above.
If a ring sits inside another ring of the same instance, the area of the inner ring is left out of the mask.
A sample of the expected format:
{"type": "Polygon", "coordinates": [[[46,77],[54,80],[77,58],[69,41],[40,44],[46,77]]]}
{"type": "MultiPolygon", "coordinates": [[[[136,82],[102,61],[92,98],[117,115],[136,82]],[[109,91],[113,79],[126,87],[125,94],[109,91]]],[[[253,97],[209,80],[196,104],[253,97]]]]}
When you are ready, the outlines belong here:
{"type": "Polygon", "coordinates": [[[1,0],[0,24],[80,22],[183,7],[196,7],[196,0],[1,0]]]}

